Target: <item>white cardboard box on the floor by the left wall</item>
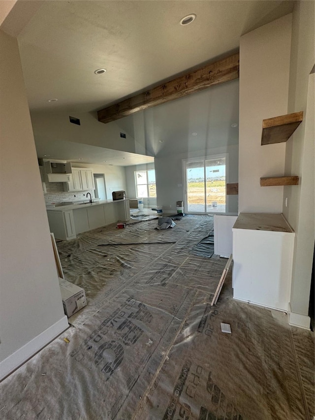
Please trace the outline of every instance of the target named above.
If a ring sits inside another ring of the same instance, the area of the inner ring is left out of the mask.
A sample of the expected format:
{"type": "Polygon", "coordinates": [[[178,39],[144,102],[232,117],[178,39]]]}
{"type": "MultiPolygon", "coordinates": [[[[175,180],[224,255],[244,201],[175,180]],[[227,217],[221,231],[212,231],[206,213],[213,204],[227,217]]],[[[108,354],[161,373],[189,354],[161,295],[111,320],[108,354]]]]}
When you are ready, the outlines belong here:
{"type": "Polygon", "coordinates": [[[61,278],[59,278],[59,286],[63,299],[64,313],[68,318],[87,305],[85,291],[82,287],[61,278]]]}

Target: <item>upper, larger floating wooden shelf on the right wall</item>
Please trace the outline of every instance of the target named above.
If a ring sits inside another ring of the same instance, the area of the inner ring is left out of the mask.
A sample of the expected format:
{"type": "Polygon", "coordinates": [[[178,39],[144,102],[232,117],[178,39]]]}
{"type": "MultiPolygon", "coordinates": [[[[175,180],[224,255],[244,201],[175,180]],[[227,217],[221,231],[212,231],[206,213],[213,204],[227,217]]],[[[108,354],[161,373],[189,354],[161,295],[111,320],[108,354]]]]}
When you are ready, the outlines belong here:
{"type": "Polygon", "coordinates": [[[303,111],[262,120],[261,145],[286,141],[303,121],[303,111]]]}

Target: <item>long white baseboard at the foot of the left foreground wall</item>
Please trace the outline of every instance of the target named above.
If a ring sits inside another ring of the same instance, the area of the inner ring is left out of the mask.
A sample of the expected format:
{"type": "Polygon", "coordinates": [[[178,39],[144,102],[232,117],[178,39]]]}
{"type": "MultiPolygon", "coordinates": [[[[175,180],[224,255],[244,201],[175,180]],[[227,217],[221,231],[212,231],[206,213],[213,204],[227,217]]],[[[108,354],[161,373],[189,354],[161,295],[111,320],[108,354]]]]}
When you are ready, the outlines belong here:
{"type": "Polygon", "coordinates": [[[39,335],[34,337],[31,341],[25,344],[16,352],[9,355],[4,360],[0,362],[0,380],[4,378],[9,373],[13,372],[16,368],[21,366],[26,360],[28,360],[32,355],[42,349],[46,344],[56,338],[69,326],[68,319],[64,316],[61,320],[54,323],[45,331],[41,332],[39,335]]]}

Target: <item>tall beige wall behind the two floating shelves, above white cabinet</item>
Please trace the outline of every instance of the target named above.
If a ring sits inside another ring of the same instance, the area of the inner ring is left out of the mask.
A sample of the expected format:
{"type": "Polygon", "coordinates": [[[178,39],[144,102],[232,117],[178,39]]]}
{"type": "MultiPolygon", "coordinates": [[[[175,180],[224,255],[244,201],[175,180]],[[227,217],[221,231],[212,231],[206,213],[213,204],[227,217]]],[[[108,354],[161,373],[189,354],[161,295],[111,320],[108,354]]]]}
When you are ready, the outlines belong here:
{"type": "Polygon", "coordinates": [[[261,146],[262,120],[287,113],[291,14],[240,40],[239,212],[281,213],[284,187],[260,187],[283,176],[285,143],[261,146]]]}

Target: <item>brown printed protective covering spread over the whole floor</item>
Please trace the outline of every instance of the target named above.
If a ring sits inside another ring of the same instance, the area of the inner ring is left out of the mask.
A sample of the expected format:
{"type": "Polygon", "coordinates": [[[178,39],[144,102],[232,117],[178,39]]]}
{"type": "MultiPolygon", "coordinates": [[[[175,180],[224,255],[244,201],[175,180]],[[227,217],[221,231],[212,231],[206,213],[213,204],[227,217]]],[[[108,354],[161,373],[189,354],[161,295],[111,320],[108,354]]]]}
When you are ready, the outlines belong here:
{"type": "Polygon", "coordinates": [[[88,306],[0,384],[0,419],[313,420],[314,334],[233,300],[231,270],[211,307],[226,259],[190,252],[212,217],[156,226],[58,243],[88,306]]]}

